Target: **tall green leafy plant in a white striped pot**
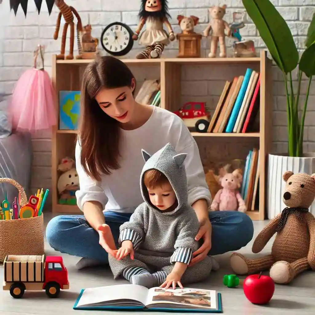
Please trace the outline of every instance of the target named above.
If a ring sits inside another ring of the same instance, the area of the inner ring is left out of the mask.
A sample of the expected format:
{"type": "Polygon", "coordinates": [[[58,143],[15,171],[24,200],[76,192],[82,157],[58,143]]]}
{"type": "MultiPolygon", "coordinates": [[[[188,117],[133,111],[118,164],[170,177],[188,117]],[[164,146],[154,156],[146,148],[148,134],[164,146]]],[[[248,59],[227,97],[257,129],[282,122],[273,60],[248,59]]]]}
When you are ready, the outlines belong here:
{"type": "MultiPolygon", "coordinates": [[[[255,23],[272,59],[284,78],[287,100],[288,152],[269,154],[267,179],[268,218],[278,215],[285,205],[282,192],[285,183],[282,174],[286,170],[295,173],[315,173],[315,153],[303,152],[304,120],[308,96],[315,76],[315,14],[310,22],[305,49],[299,54],[289,26],[269,0],[242,0],[249,17],[255,23]],[[297,70],[297,85],[292,72],[297,70]],[[305,99],[301,98],[302,78],[307,77],[305,99]],[[299,109],[302,112],[299,113],[299,109]]],[[[310,211],[315,213],[315,204],[310,211]]]]}

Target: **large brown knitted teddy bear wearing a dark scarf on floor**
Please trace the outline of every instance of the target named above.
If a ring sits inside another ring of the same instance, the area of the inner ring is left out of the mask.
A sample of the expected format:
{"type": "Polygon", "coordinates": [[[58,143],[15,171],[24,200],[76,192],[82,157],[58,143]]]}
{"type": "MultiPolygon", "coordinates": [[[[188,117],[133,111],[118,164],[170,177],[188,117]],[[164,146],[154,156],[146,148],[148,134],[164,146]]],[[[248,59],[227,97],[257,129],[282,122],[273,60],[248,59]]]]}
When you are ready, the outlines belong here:
{"type": "Polygon", "coordinates": [[[277,232],[271,254],[248,259],[233,253],[230,263],[236,274],[252,274],[270,268],[275,283],[288,284],[301,272],[315,270],[315,218],[308,212],[315,198],[315,174],[283,174],[283,202],[287,206],[256,237],[252,251],[259,253],[277,232]]]}

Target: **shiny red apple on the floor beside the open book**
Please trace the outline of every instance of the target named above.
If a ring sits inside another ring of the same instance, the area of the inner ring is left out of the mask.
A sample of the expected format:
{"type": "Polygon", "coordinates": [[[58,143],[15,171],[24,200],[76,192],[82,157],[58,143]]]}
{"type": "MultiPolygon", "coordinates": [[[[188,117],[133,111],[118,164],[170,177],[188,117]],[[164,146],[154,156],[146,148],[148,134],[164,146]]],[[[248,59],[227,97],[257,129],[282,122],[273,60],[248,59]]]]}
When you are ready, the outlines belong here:
{"type": "Polygon", "coordinates": [[[266,304],[272,298],[275,284],[269,276],[254,274],[245,278],[243,290],[247,299],[253,304],[266,304]]]}

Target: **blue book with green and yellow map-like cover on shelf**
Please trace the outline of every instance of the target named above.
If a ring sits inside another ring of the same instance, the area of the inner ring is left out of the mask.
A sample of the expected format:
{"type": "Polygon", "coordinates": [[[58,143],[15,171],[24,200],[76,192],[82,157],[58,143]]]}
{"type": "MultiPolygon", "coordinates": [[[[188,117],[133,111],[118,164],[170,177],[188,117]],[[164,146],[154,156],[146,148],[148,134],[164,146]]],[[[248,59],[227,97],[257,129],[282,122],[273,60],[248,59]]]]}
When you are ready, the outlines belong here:
{"type": "Polygon", "coordinates": [[[77,130],[80,115],[80,91],[59,91],[59,129],[77,130]]]}

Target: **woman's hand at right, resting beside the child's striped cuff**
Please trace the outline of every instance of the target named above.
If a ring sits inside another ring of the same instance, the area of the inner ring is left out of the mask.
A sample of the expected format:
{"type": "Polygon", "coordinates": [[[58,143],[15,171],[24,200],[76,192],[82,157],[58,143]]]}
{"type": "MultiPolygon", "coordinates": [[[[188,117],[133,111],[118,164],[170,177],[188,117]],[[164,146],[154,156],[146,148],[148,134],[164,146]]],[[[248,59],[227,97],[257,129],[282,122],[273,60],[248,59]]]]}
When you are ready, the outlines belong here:
{"type": "Polygon", "coordinates": [[[199,249],[192,253],[194,258],[190,262],[189,267],[193,266],[199,261],[202,261],[208,255],[209,250],[211,249],[211,223],[209,218],[200,224],[195,240],[199,241],[200,238],[203,238],[203,244],[199,249]]]}

